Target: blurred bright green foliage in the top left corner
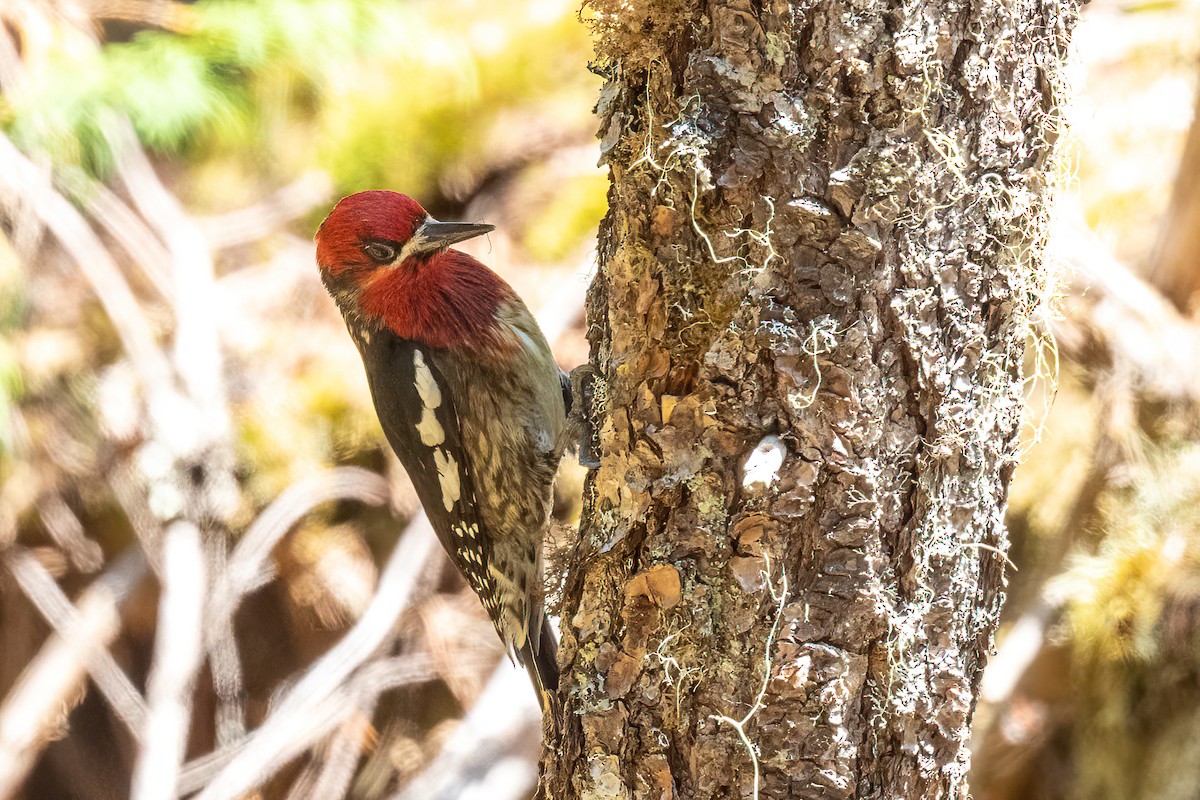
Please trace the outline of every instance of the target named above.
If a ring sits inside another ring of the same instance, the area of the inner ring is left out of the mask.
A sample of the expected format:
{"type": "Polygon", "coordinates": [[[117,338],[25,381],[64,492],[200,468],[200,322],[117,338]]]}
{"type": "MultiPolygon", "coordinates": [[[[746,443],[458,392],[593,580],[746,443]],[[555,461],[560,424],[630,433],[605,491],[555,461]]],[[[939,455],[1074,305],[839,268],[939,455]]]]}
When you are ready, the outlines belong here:
{"type": "Polygon", "coordinates": [[[29,150],[102,174],[112,164],[107,128],[119,115],[146,145],[180,152],[205,133],[250,127],[256,72],[283,67],[320,80],[379,30],[365,0],[202,0],[190,12],[181,34],[54,49],[5,97],[0,124],[29,150]]]}

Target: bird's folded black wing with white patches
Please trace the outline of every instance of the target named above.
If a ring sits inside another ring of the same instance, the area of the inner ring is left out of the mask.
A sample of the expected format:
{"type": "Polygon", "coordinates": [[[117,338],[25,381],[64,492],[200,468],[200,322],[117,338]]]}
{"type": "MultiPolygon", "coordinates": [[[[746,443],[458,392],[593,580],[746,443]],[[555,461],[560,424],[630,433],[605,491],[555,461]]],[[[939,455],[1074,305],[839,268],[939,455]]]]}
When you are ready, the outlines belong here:
{"type": "Polygon", "coordinates": [[[404,465],[450,560],[498,620],[492,554],[448,384],[422,345],[382,330],[356,336],[388,443],[404,465]]]}

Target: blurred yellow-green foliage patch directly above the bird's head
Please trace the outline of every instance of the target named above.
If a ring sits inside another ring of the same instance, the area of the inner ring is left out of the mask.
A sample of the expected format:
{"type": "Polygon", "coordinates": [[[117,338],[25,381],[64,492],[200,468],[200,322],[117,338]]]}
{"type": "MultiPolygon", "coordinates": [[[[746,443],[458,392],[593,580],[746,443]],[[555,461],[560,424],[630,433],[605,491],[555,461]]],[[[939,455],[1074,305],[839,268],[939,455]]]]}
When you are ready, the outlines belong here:
{"type": "Polygon", "coordinates": [[[394,46],[374,68],[326,86],[319,162],[347,191],[452,190],[488,162],[524,161],[536,144],[530,118],[548,118],[557,136],[592,124],[578,112],[599,86],[584,68],[587,31],[572,14],[540,19],[535,6],[455,1],[420,8],[419,18],[386,20],[394,46]],[[564,94],[571,102],[559,108],[564,94]]]}

